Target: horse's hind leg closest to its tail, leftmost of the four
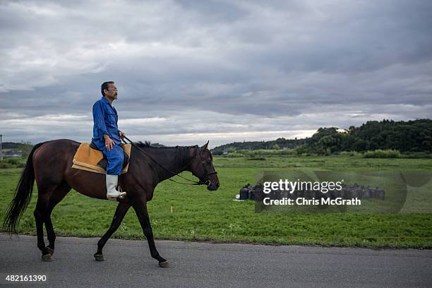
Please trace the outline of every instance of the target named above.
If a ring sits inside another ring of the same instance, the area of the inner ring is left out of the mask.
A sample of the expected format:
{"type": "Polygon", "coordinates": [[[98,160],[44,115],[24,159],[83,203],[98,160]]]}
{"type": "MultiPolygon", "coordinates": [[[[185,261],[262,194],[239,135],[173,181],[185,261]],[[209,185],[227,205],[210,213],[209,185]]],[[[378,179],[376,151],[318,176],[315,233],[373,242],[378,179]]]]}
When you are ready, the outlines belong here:
{"type": "Polygon", "coordinates": [[[37,232],[37,248],[42,252],[42,260],[51,261],[52,255],[49,249],[45,247],[44,242],[44,220],[48,212],[49,198],[57,185],[41,186],[37,189],[37,203],[35,212],[36,232],[37,232]]]}

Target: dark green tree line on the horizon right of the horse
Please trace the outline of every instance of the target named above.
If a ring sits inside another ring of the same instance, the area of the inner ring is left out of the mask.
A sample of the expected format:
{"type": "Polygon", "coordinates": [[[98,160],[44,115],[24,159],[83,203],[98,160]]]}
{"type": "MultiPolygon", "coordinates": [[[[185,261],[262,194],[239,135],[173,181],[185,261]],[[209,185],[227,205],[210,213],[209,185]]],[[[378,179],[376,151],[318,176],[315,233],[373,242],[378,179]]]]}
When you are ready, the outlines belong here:
{"type": "Polygon", "coordinates": [[[278,138],[272,141],[234,142],[212,149],[215,155],[236,150],[296,149],[296,154],[330,155],[342,151],[398,150],[403,153],[432,152],[432,120],[367,121],[359,127],[319,128],[305,139],[278,138]]]}

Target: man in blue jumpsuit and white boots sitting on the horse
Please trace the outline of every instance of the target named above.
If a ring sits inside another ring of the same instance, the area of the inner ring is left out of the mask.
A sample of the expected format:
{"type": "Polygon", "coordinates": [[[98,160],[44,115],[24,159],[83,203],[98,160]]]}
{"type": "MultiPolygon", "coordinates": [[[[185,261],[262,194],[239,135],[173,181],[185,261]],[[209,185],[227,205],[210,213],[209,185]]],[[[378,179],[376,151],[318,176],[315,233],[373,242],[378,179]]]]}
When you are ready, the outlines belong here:
{"type": "Polygon", "coordinates": [[[124,198],[126,192],[116,190],[119,183],[119,175],[123,167],[124,154],[121,148],[120,138],[124,133],[119,130],[117,121],[119,116],[112,106],[112,102],[117,99],[117,88],[113,81],[102,83],[100,88],[102,97],[93,104],[93,138],[97,148],[107,156],[107,198],[116,200],[117,197],[124,198]]]}

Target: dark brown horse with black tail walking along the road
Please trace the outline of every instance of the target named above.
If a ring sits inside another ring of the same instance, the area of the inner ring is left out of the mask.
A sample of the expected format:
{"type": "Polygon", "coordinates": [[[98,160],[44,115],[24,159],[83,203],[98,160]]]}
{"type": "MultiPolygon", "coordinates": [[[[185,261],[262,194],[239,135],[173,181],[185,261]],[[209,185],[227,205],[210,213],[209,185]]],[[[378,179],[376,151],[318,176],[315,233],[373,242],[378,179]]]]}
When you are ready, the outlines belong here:
{"type": "MultiPolygon", "coordinates": [[[[52,227],[51,212],[71,191],[71,188],[85,196],[107,200],[104,174],[72,168],[73,155],[79,145],[80,143],[76,141],[66,139],[35,145],[28,156],[15,197],[6,213],[4,229],[10,233],[16,232],[20,217],[30,202],[36,179],[38,193],[34,215],[37,247],[42,251],[42,260],[52,260],[54,253],[56,235],[52,227]],[[47,229],[48,246],[45,246],[44,243],[43,224],[47,229]]],[[[132,206],[147,238],[152,258],[159,261],[160,267],[168,267],[167,260],[162,258],[156,250],[147,212],[147,202],[152,200],[157,184],[183,171],[192,172],[200,179],[200,184],[207,185],[208,190],[217,190],[219,179],[207,145],[208,143],[203,147],[196,145],[154,148],[148,144],[139,143],[132,146],[128,172],[119,177],[121,188],[127,192],[127,196],[119,200],[111,227],[97,243],[96,260],[104,260],[102,248],[132,206]]]]}

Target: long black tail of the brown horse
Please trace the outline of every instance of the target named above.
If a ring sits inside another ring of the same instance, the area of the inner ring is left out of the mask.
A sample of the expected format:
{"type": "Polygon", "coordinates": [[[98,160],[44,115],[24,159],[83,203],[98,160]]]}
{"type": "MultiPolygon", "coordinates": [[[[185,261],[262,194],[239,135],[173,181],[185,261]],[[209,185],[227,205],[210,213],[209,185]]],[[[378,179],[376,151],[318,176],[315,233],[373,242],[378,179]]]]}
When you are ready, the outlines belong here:
{"type": "Polygon", "coordinates": [[[30,152],[30,155],[28,155],[27,163],[25,164],[23,172],[21,172],[20,181],[18,181],[18,185],[16,186],[15,197],[13,197],[11,204],[9,204],[8,212],[6,212],[3,230],[10,234],[16,233],[16,225],[20,222],[20,218],[23,216],[23,212],[32,198],[33,184],[35,183],[33,154],[42,144],[44,144],[44,142],[36,144],[30,152]]]}

